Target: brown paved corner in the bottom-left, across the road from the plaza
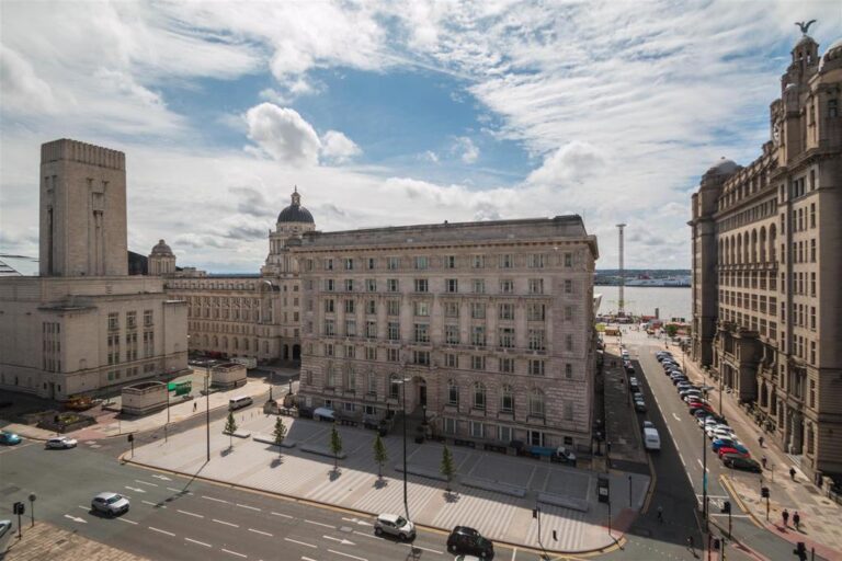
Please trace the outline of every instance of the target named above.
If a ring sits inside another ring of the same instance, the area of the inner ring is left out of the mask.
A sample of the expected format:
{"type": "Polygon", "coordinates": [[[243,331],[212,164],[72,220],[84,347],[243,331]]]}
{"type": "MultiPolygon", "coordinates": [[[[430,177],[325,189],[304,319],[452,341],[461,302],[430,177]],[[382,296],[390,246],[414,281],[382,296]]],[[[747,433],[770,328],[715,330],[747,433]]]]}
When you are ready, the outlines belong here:
{"type": "MultiPolygon", "coordinates": [[[[26,520],[24,518],[24,520],[26,520]]],[[[23,524],[23,537],[14,536],[7,543],[8,549],[0,551],[3,561],[147,561],[147,558],[100,543],[76,531],[59,528],[53,524],[38,522],[30,527],[23,524]]]]}

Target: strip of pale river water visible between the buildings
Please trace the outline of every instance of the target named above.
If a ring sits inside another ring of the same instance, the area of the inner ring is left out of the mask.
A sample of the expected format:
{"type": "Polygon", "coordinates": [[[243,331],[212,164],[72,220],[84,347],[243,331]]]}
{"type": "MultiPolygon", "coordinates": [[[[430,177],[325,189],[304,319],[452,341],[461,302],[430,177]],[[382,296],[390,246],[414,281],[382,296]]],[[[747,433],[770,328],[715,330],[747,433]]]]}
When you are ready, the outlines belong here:
{"type": "MultiPolygon", "coordinates": [[[[691,320],[691,289],[689,287],[626,287],[626,312],[642,316],[655,316],[659,309],[661,319],[684,318],[691,320]]],[[[598,313],[611,313],[617,310],[619,287],[594,286],[594,294],[602,295],[602,305],[598,313]]]]}

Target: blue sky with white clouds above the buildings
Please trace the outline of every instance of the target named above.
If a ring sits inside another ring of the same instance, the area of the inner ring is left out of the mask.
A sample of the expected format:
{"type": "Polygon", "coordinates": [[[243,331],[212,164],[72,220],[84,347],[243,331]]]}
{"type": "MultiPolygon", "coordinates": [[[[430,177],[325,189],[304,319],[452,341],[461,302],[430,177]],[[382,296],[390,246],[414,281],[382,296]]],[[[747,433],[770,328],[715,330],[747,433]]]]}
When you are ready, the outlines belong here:
{"type": "Polygon", "coordinates": [[[690,266],[690,196],[748,164],[842,4],[0,1],[0,253],[37,255],[39,146],[126,153],[128,245],[255,273],[319,230],[579,214],[598,268],[690,266]]]}

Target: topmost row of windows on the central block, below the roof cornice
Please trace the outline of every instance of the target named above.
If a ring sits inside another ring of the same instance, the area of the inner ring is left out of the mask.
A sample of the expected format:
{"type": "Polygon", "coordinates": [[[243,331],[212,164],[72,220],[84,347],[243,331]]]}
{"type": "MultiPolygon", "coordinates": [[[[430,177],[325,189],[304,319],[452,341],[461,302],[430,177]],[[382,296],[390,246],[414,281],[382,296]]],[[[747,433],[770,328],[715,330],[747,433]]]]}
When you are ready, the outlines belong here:
{"type": "MultiPolygon", "coordinates": [[[[544,268],[551,265],[551,255],[548,253],[527,253],[526,255],[503,253],[497,255],[496,260],[492,255],[486,254],[473,254],[473,255],[443,255],[430,257],[429,255],[416,255],[413,257],[325,257],[321,262],[322,271],[335,271],[340,267],[344,271],[365,270],[374,271],[385,266],[387,271],[399,271],[401,268],[411,267],[417,271],[424,271],[428,268],[457,268],[462,266],[470,266],[471,268],[487,268],[492,266],[492,263],[497,264],[498,268],[515,268],[517,266],[526,266],[528,268],[544,268]]],[[[562,253],[557,261],[558,264],[565,267],[573,266],[572,252],[562,253]]],[[[306,270],[314,270],[314,260],[308,259],[306,262],[306,270]]]]}

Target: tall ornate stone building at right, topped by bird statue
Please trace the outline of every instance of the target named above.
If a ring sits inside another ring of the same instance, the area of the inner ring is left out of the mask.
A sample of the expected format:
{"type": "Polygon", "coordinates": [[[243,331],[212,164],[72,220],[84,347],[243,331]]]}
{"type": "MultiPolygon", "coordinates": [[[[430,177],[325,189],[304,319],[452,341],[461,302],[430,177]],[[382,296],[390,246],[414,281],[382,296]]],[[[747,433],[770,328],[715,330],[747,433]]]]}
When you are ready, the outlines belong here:
{"type": "Polygon", "coordinates": [[[815,478],[842,473],[842,39],[804,34],[746,167],[692,197],[692,356],[815,478]]]}

